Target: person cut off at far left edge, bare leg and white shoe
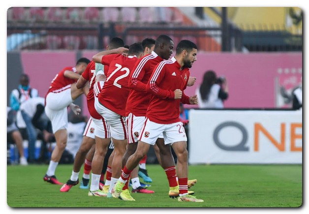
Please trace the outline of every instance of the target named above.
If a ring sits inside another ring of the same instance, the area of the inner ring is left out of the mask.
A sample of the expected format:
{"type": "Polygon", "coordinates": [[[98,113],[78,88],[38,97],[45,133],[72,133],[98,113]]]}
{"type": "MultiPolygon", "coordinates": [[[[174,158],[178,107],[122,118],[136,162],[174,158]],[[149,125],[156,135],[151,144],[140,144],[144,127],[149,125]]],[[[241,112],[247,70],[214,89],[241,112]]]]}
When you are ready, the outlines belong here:
{"type": "Polygon", "coordinates": [[[15,143],[18,153],[19,153],[19,162],[20,165],[28,165],[27,159],[24,155],[24,147],[23,147],[23,138],[21,133],[19,132],[17,126],[15,125],[15,111],[8,107],[6,108],[6,139],[7,142],[15,143]]]}

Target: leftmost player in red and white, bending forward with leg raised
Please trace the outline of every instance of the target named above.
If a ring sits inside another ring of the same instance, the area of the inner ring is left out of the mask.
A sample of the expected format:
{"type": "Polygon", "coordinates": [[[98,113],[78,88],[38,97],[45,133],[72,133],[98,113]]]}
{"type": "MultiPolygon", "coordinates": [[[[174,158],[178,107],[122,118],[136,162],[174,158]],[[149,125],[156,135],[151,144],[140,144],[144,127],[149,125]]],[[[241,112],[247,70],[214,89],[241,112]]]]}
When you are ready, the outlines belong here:
{"type": "Polygon", "coordinates": [[[57,180],[55,172],[67,141],[67,107],[70,106],[76,115],[81,112],[80,107],[73,104],[73,101],[83,93],[88,94],[89,87],[77,89],[76,82],[89,62],[87,58],[80,58],[75,67],[63,68],[52,80],[45,97],[45,113],[52,122],[56,147],[52,152],[48,170],[43,179],[52,184],[63,184],[57,180]]]}

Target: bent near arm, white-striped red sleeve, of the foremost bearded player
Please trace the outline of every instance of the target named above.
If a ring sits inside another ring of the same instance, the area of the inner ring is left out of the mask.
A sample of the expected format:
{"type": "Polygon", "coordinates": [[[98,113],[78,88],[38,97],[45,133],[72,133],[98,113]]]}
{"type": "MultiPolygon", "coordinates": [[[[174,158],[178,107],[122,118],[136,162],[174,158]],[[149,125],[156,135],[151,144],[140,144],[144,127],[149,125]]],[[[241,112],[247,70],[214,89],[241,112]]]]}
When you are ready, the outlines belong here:
{"type": "Polygon", "coordinates": [[[154,72],[147,83],[147,92],[155,94],[155,96],[160,97],[161,99],[180,99],[181,96],[176,96],[175,92],[170,90],[164,90],[158,87],[158,85],[164,79],[165,74],[165,66],[159,66],[160,64],[161,63],[156,65],[154,72]]]}

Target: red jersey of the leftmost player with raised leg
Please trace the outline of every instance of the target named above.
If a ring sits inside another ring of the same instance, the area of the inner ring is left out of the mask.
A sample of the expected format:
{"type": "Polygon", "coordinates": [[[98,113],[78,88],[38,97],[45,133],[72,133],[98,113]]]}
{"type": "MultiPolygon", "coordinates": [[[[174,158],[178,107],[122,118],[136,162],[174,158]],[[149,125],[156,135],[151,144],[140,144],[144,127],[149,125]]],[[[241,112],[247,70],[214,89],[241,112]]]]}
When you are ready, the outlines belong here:
{"type": "Polygon", "coordinates": [[[58,93],[58,92],[62,92],[66,89],[69,89],[70,87],[68,87],[68,85],[76,83],[77,79],[71,79],[71,78],[67,78],[64,76],[64,71],[69,70],[72,72],[77,72],[75,67],[65,67],[62,69],[62,71],[60,71],[60,73],[58,73],[55,78],[52,80],[52,84],[49,87],[49,90],[47,92],[47,94],[49,92],[54,92],[54,93],[58,93]]]}

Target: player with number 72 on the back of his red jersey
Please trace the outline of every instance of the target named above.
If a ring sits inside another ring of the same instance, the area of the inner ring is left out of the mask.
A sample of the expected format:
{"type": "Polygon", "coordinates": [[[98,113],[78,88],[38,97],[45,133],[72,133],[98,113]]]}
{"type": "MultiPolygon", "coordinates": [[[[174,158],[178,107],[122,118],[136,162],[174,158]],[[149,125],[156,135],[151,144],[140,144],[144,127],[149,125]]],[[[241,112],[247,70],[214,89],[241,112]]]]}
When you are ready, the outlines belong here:
{"type": "MultiPolygon", "coordinates": [[[[112,141],[115,147],[115,155],[112,163],[112,180],[109,193],[114,183],[121,174],[122,157],[124,155],[126,139],[126,112],[125,105],[129,93],[128,77],[135,62],[143,56],[143,47],[134,43],[127,48],[118,48],[110,51],[103,51],[93,56],[93,61],[109,65],[106,82],[102,91],[95,101],[96,111],[110,124],[112,141]],[[123,53],[128,51],[128,56],[123,53]]],[[[98,172],[102,170],[104,153],[107,145],[96,144],[93,157],[93,173],[90,192],[97,191],[96,182],[98,172]]]]}

